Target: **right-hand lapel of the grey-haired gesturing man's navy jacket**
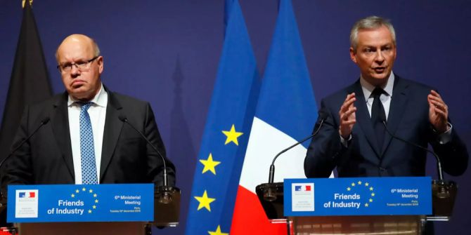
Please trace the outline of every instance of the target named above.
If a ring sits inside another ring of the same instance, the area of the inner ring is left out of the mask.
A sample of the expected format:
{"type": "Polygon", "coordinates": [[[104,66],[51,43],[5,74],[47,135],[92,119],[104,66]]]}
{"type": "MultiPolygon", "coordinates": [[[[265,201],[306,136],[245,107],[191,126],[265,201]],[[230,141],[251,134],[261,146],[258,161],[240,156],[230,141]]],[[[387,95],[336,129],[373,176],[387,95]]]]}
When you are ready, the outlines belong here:
{"type": "MultiPolygon", "coordinates": [[[[387,128],[391,133],[396,133],[399,123],[401,123],[404,114],[404,108],[407,103],[407,83],[404,83],[399,76],[394,78],[394,88],[392,93],[391,105],[389,105],[389,115],[387,117],[387,128]]],[[[386,152],[387,147],[392,140],[392,136],[386,134],[385,142],[382,145],[382,154],[386,152]]]]}

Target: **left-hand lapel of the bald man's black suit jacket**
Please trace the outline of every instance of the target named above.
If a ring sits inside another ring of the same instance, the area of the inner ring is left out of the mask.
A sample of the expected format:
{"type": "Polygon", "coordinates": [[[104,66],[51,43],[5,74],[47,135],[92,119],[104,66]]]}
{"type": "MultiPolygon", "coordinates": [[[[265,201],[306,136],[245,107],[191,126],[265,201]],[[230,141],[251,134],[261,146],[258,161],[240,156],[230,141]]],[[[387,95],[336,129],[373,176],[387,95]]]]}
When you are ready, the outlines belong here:
{"type": "Polygon", "coordinates": [[[51,113],[51,126],[62,152],[63,160],[72,179],[75,180],[74,161],[72,159],[72,145],[70,144],[69,115],[67,110],[67,93],[60,95],[53,105],[51,113]]]}

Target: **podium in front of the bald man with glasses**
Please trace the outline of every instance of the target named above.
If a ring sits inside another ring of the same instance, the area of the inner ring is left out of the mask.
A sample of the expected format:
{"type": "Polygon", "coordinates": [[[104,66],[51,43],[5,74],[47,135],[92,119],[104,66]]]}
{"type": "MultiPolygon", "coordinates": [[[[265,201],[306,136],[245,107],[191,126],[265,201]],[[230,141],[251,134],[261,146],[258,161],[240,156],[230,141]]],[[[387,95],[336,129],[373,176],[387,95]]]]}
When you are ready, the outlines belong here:
{"type": "Polygon", "coordinates": [[[154,184],[8,186],[19,234],[151,234],[179,224],[180,189],[154,184]]]}

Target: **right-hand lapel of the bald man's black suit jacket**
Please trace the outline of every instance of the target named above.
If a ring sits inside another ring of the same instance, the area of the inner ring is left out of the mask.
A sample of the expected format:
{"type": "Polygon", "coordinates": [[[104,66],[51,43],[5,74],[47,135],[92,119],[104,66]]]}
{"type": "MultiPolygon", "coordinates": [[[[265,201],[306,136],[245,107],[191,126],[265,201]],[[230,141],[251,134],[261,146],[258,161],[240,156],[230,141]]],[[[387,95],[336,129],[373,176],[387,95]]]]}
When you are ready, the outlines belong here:
{"type": "Polygon", "coordinates": [[[100,182],[103,180],[103,175],[110,164],[113,152],[115,152],[117,140],[120,137],[124,124],[118,119],[120,109],[122,109],[120,102],[118,102],[115,95],[108,88],[105,87],[105,90],[108,92],[108,105],[106,107],[105,130],[103,132],[103,147],[101,151],[100,182]]]}

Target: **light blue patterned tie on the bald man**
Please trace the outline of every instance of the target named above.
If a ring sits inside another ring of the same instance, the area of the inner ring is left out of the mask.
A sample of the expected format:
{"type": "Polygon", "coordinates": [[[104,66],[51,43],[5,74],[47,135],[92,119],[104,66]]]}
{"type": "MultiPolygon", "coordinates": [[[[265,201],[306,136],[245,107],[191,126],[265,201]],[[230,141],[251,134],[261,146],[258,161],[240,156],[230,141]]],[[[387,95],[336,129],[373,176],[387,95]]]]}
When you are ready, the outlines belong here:
{"type": "Polygon", "coordinates": [[[79,103],[80,109],[80,154],[82,161],[82,184],[98,184],[96,177],[95,147],[93,145],[93,130],[89,107],[92,102],[79,103]]]}

